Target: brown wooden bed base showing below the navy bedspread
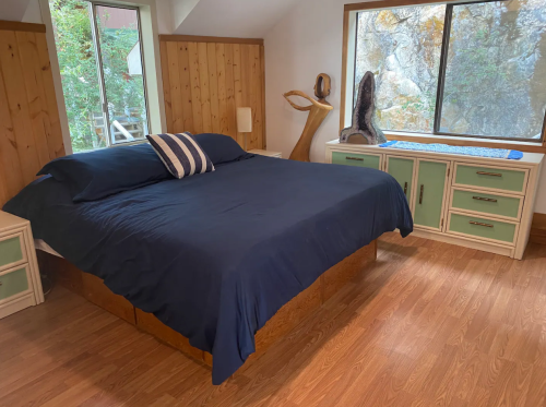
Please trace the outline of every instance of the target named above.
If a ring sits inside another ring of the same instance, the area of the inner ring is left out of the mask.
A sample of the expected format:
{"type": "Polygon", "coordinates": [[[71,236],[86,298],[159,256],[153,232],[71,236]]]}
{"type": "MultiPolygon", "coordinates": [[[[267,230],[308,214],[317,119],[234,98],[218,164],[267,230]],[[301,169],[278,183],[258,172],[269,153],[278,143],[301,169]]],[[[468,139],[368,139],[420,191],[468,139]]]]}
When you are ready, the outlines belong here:
{"type": "MultiPolygon", "coordinates": [[[[62,258],[37,251],[41,273],[48,273],[56,282],[88,301],[111,312],[116,316],[152,334],[157,339],[175,347],[185,355],[212,367],[212,355],[194,348],[178,332],[164,325],[153,314],[133,307],[127,299],[111,292],[98,277],[80,271],[62,258]]],[[[359,274],[377,259],[377,240],[356,251],[351,256],[322,274],[309,288],[281,308],[256,334],[256,354],[262,355],[277,339],[286,335],[307,315],[320,308],[348,280],[359,274]]]]}

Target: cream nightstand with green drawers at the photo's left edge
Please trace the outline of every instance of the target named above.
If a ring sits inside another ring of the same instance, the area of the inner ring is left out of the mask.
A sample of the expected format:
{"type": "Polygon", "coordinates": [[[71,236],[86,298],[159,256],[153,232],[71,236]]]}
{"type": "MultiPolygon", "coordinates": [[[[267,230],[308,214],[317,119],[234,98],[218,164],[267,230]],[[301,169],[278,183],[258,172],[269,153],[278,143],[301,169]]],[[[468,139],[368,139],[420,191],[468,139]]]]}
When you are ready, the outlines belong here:
{"type": "Polygon", "coordinates": [[[31,223],[0,211],[0,318],[41,302],[31,223]]]}

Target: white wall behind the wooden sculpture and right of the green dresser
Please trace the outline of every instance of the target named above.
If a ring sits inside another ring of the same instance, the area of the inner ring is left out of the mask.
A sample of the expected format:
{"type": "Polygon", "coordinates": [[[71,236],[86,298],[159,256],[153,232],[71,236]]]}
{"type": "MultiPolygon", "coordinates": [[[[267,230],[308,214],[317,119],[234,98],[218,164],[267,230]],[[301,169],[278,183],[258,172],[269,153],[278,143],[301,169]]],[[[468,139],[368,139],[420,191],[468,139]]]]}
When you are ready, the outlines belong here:
{"type": "MultiPolygon", "coordinates": [[[[296,145],[307,113],[292,108],[282,94],[298,89],[313,96],[314,80],[321,72],[332,77],[328,100],[334,110],[314,136],[311,160],[322,163],[324,143],[339,137],[345,3],[346,0],[301,0],[265,35],[268,149],[280,151],[283,157],[288,157],[296,145]]],[[[535,211],[546,213],[546,163],[535,211]]]]}

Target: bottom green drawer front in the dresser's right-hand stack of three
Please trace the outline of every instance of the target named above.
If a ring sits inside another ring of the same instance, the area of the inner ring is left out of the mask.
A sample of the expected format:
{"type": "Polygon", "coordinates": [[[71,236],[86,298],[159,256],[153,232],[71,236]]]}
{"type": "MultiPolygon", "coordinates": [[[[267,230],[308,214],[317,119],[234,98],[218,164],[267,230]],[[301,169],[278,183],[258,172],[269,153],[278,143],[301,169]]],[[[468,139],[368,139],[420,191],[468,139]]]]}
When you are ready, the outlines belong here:
{"type": "Polygon", "coordinates": [[[483,219],[475,216],[451,214],[449,230],[512,243],[515,234],[515,225],[500,220],[483,219]]]}

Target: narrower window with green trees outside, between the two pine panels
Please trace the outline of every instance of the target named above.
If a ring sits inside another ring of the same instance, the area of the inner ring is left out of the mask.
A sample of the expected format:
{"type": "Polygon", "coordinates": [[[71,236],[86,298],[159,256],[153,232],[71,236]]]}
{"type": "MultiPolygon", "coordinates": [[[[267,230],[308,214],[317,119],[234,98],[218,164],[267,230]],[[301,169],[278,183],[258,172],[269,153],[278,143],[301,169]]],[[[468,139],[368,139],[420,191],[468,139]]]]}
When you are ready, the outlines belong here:
{"type": "Polygon", "coordinates": [[[149,133],[139,9],[50,0],[74,152],[149,133]]]}

